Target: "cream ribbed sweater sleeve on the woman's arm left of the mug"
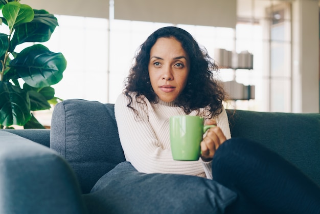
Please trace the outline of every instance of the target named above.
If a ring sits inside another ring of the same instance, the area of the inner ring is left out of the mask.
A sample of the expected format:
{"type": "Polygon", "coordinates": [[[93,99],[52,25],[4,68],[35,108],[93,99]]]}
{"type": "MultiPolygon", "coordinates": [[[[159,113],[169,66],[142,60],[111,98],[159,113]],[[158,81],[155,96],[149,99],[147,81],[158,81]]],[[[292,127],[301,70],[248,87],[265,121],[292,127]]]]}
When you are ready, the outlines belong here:
{"type": "MultiPolygon", "coordinates": [[[[133,97],[131,106],[138,111],[137,116],[127,107],[127,103],[127,97],[123,94],[115,103],[119,137],[127,161],[143,173],[205,176],[200,160],[175,161],[172,159],[171,149],[163,148],[163,142],[159,142],[149,122],[148,114],[152,114],[152,110],[148,109],[147,104],[136,102],[133,97]]],[[[167,129],[162,133],[166,132],[167,129]]]]}

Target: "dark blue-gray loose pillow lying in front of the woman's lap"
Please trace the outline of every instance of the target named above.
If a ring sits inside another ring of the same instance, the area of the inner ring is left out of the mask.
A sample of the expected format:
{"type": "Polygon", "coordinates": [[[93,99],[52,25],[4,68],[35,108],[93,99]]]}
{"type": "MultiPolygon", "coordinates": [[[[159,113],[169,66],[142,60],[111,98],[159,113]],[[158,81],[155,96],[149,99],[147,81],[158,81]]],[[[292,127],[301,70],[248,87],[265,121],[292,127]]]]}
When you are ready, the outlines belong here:
{"type": "Polygon", "coordinates": [[[206,178],[139,173],[117,165],[84,196],[90,213],[223,213],[237,195],[206,178]]]}

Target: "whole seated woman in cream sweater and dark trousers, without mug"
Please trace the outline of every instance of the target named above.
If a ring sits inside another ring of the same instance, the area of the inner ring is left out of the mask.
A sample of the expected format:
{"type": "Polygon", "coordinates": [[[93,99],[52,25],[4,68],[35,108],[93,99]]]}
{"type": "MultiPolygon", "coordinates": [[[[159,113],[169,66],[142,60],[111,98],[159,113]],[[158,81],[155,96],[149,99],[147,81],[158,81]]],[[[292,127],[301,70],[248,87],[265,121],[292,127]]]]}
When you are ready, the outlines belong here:
{"type": "MultiPolygon", "coordinates": [[[[216,71],[217,66],[208,53],[201,50],[195,39],[185,30],[165,27],[152,33],[136,55],[124,93],[119,96],[115,105],[119,136],[126,160],[143,173],[174,173],[215,179],[238,193],[237,201],[226,210],[229,213],[248,213],[249,210],[255,212],[261,207],[264,210],[281,210],[275,205],[268,207],[270,203],[265,202],[270,189],[262,187],[263,192],[259,192],[262,196],[259,196],[256,191],[247,190],[247,186],[244,188],[247,180],[258,180],[262,186],[272,188],[276,196],[270,197],[276,201],[282,199],[280,205],[290,204],[292,207],[296,202],[295,198],[288,197],[288,192],[279,186],[267,183],[267,177],[263,180],[259,176],[247,179],[255,169],[250,168],[252,162],[241,159],[241,156],[250,156],[250,161],[256,160],[261,164],[267,162],[267,167],[272,169],[270,172],[282,173],[283,180],[288,179],[291,174],[296,176],[299,173],[295,168],[291,169],[289,163],[278,156],[273,157],[274,154],[258,144],[243,139],[231,139],[227,115],[222,105],[226,95],[220,82],[214,78],[216,71]],[[216,125],[209,129],[200,144],[199,161],[172,159],[169,117],[186,114],[202,116],[205,123],[216,125]],[[219,146],[221,149],[218,149],[219,146]],[[235,153],[232,151],[241,151],[240,158],[233,156],[235,153]],[[267,155],[260,158],[261,154],[267,155]],[[272,156],[271,160],[268,159],[269,155],[272,156]],[[237,164],[239,162],[242,163],[240,166],[237,164]],[[273,166],[278,166],[279,162],[285,162],[285,168],[289,165],[288,172],[277,167],[273,170],[273,166]]],[[[320,190],[305,176],[299,174],[297,177],[299,178],[294,180],[292,185],[297,186],[296,192],[299,194],[308,186],[310,191],[307,191],[303,200],[308,201],[307,208],[310,208],[311,204],[311,210],[315,208],[312,207],[313,204],[320,204],[320,198],[317,198],[320,190]],[[301,182],[306,185],[300,184],[301,182]]],[[[292,192],[289,192],[290,194],[292,192]]],[[[319,208],[319,205],[314,206],[319,208]]],[[[293,210],[297,209],[293,207],[293,210]]]]}

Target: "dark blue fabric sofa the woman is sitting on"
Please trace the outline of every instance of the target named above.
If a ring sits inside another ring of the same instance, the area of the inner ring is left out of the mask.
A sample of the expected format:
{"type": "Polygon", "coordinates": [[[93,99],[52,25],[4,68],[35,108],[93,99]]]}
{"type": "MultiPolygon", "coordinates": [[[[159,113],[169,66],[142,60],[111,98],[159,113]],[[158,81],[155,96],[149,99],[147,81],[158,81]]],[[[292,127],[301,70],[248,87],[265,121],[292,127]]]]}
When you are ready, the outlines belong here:
{"type": "MultiPolygon", "coordinates": [[[[232,137],[264,144],[320,185],[320,114],[227,114],[232,137]]],[[[51,130],[0,131],[0,213],[120,213],[90,190],[124,161],[114,105],[65,100],[51,130]]]]}

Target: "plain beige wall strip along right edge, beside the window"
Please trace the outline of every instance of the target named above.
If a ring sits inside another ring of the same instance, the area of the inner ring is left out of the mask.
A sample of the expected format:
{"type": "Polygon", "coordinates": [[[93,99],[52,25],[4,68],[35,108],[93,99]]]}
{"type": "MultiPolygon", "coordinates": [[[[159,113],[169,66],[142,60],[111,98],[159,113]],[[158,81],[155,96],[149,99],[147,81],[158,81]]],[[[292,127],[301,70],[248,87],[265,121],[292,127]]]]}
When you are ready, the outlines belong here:
{"type": "Polygon", "coordinates": [[[318,1],[292,2],[292,112],[319,112],[318,1]]]}

